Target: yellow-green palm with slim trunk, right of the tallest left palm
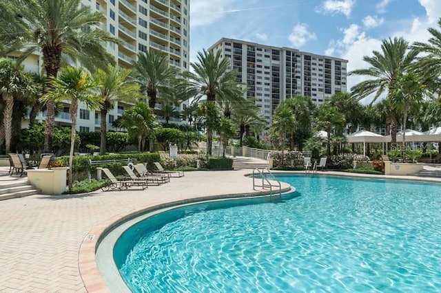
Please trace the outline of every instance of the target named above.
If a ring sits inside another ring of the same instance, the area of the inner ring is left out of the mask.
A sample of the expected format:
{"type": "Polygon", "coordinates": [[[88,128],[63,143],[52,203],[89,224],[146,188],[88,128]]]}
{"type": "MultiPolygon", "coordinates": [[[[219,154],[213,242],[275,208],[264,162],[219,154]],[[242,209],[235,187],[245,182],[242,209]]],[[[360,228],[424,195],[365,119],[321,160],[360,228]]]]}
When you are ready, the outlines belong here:
{"type": "Polygon", "coordinates": [[[97,69],[92,76],[97,85],[96,96],[99,96],[101,100],[100,155],[103,155],[106,151],[107,123],[105,119],[107,112],[112,109],[114,102],[132,102],[136,100],[136,98],[141,97],[139,94],[139,85],[130,82],[130,74],[130,70],[121,69],[116,65],[107,67],[105,70],[97,69]]]}

